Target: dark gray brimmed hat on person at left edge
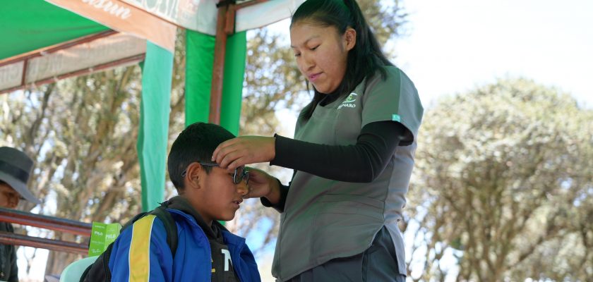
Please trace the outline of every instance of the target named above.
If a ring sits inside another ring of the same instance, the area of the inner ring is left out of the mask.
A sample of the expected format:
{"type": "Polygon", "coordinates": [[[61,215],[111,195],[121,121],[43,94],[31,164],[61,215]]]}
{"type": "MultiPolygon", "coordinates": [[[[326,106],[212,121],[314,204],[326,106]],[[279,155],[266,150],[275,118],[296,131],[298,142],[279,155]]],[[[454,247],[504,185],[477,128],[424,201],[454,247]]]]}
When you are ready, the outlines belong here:
{"type": "Polygon", "coordinates": [[[11,147],[0,147],[0,180],[10,185],[23,199],[41,204],[27,188],[32,169],[33,160],[25,153],[11,147]]]}

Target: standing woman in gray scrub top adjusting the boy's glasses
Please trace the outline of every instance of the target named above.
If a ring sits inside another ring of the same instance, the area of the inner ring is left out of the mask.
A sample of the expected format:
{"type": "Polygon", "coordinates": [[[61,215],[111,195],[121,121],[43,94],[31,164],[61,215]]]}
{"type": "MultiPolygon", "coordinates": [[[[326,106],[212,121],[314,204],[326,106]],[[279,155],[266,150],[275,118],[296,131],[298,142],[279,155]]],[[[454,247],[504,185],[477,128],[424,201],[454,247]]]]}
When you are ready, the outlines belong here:
{"type": "Polygon", "coordinates": [[[404,281],[402,219],[423,109],[354,0],[308,0],[290,25],[313,100],[294,140],[244,136],[212,161],[293,168],[288,186],[251,171],[248,197],[282,212],[272,274],[279,281],[404,281]]]}

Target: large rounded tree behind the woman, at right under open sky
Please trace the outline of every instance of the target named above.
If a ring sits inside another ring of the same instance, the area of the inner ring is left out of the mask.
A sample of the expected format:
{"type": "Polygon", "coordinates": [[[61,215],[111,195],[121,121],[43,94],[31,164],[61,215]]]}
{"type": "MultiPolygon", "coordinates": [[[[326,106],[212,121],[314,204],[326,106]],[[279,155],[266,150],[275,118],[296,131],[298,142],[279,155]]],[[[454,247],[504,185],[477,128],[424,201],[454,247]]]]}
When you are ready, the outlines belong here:
{"type": "Polygon", "coordinates": [[[414,281],[593,277],[592,120],[567,94],[525,79],[427,111],[405,224],[414,281]]]}

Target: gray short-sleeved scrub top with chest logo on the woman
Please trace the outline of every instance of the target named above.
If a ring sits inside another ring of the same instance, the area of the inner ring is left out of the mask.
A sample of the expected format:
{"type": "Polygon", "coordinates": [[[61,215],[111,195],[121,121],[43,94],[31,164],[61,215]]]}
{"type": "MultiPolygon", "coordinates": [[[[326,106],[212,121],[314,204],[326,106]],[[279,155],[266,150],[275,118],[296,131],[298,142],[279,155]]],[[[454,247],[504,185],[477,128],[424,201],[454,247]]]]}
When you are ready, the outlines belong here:
{"type": "Polygon", "coordinates": [[[398,270],[406,274],[397,221],[406,202],[423,109],[412,81],[398,68],[387,71],[387,80],[380,75],[365,79],[348,97],[317,106],[309,121],[297,121],[296,140],[354,145],[367,123],[399,121],[412,131],[414,143],[397,147],[372,183],[347,183],[296,171],[280,217],[272,264],[272,274],[280,281],[330,259],[364,252],[383,226],[393,239],[398,270]]]}

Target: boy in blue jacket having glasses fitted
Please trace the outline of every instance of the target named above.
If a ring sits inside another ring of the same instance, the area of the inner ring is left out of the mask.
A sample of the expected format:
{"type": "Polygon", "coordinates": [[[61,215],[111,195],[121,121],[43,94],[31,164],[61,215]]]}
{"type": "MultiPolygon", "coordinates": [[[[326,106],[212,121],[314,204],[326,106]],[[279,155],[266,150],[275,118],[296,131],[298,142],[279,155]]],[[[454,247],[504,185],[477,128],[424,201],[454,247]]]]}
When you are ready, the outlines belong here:
{"type": "Polygon", "coordinates": [[[248,193],[243,167],[229,172],[210,161],[214,149],[233,137],[209,123],[194,123],[179,134],[168,160],[179,196],[165,203],[177,226],[175,256],[162,221],[145,216],[115,241],[112,281],[260,281],[245,239],[217,222],[233,219],[248,193]]]}

